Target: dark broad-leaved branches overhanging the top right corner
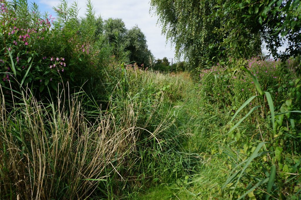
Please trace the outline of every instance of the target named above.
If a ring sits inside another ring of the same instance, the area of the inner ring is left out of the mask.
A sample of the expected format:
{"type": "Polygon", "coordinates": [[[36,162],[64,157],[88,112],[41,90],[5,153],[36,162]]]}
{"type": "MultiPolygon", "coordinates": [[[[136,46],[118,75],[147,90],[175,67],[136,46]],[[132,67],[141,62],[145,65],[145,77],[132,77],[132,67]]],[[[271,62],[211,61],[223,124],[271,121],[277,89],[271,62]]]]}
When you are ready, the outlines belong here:
{"type": "MultiPolygon", "coordinates": [[[[246,26],[259,29],[261,38],[274,57],[288,58],[301,54],[300,0],[226,1],[217,13],[234,22],[227,24],[231,33],[246,26]],[[277,52],[281,46],[286,51],[277,52]]],[[[229,40],[233,41],[232,40],[229,40]]]]}

